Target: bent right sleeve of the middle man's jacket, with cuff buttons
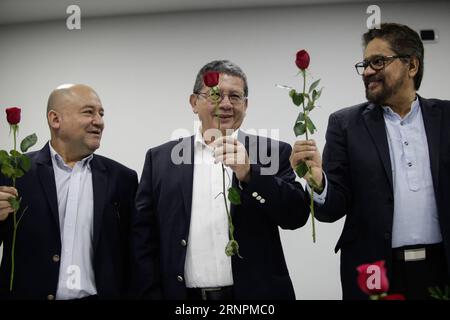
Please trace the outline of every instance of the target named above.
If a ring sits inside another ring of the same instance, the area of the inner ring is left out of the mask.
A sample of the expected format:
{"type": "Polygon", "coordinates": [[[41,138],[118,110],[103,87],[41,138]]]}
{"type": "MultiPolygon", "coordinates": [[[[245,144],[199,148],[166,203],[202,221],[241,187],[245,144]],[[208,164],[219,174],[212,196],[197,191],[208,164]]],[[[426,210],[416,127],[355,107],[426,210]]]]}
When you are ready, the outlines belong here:
{"type": "Polygon", "coordinates": [[[250,181],[242,191],[242,206],[257,207],[269,216],[274,224],[283,229],[296,229],[305,225],[309,217],[307,194],[300,183],[295,181],[295,173],[289,162],[291,146],[280,142],[278,152],[279,169],[276,174],[264,174],[263,166],[251,165],[250,181]],[[256,192],[261,203],[253,196],[256,192]]]}

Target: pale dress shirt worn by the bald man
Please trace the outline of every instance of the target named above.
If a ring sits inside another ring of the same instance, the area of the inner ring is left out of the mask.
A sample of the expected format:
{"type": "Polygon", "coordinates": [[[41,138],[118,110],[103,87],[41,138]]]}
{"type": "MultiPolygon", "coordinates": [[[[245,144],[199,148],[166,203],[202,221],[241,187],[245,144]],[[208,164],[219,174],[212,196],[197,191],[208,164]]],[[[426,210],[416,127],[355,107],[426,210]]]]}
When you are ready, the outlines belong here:
{"type": "Polygon", "coordinates": [[[77,299],[97,294],[93,269],[94,192],[90,161],[73,168],[50,146],[58,198],[61,257],[56,299],[77,299]]]}

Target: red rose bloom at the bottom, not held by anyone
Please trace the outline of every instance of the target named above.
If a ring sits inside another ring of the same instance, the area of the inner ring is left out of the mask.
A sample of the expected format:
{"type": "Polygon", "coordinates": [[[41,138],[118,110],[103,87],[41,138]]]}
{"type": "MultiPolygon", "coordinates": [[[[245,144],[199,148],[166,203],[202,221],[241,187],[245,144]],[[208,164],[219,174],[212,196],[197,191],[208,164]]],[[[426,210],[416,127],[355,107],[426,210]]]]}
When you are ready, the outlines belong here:
{"type": "Polygon", "coordinates": [[[389,290],[384,261],[363,264],[358,270],[358,286],[368,295],[380,294],[389,290]]]}

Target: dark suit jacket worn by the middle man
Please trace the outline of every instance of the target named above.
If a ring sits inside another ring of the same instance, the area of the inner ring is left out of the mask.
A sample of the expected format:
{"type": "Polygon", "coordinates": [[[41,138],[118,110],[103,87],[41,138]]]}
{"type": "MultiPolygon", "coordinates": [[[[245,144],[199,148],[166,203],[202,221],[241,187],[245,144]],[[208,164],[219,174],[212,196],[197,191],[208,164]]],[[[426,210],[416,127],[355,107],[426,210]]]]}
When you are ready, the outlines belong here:
{"type": "MultiPolygon", "coordinates": [[[[243,259],[232,257],[236,299],[295,299],[278,227],[296,229],[308,220],[309,207],[289,164],[291,147],[283,142],[240,134],[255,164],[244,184],[242,204],[231,205],[235,239],[243,259]],[[268,142],[268,154],[279,155],[274,175],[261,175],[258,143],[268,142]],[[266,199],[260,203],[252,193],[266,199]]],[[[133,221],[135,294],[139,298],[186,299],[184,264],[192,203],[192,164],[176,165],[172,149],[182,147],[193,163],[194,137],[171,141],[147,152],[133,221]]],[[[178,152],[178,151],[177,151],[178,152]]],[[[183,151],[182,151],[183,152],[183,151]]],[[[237,179],[233,175],[233,185],[237,179]]],[[[188,244],[189,245],[189,244],[188,244]]],[[[225,248],[224,248],[225,250],[225,248]]]]}

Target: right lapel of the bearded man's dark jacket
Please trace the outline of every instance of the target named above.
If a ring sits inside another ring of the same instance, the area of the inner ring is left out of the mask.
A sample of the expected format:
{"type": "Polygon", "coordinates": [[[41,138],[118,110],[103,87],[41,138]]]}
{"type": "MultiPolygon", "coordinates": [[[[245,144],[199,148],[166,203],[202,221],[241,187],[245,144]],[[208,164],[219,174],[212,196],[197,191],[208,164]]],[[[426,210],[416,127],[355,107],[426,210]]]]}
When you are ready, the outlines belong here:
{"type": "Polygon", "coordinates": [[[423,124],[428,142],[428,153],[430,156],[431,176],[433,177],[433,186],[435,193],[439,184],[439,148],[441,132],[441,109],[436,104],[419,96],[420,107],[422,110],[423,124]]]}

